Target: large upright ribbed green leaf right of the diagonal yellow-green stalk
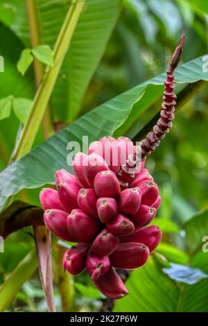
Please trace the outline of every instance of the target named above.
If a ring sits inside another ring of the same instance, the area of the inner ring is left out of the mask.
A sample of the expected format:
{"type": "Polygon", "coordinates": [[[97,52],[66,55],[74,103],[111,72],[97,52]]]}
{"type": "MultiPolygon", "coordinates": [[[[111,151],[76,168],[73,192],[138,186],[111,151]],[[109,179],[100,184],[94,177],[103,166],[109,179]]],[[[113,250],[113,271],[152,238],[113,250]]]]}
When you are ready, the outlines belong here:
{"type": "MultiPolygon", "coordinates": [[[[74,121],[121,10],[121,0],[87,0],[71,41],[52,103],[55,119],[74,121]]],[[[56,19],[56,18],[55,18],[56,19]]],[[[49,32],[47,32],[48,34],[49,32]]]]}

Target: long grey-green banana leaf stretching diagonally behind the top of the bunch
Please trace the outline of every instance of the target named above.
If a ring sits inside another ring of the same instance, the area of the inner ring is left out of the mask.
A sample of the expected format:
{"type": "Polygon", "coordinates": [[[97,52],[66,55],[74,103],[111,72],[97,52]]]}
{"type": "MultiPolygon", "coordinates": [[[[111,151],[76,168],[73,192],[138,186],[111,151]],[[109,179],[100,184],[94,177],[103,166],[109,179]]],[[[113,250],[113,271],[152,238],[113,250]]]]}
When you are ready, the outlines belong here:
{"type": "MultiPolygon", "coordinates": [[[[202,58],[179,67],[176,71],[176,78],[178,83],[193,83],[198,79],[208,80],[208,74],[202,71],[202,58]]],[[[57,132],[19,161],[8,166],[0,173],[0,208],[3,208],[9,196],[17,194],[21,189],[54,183],[54,174],[58,169],[72,171],[71,166],[67,165],[69,141],[78,141],[82,144],[83,136],[88,136],[91,142],[103,136],[113,135],[126,119],[128,121],[131,112],[137,113],[137,119],[139,119],[140,114],[144,112],[144,109],[139,107],[139,102],[144,94],[148,94],[148,85],[155,87],[157,92],[157,85],[162,85],[163,80],[162,74],[112,98],[57,132]]],[[[78,151],[81,149],[77,148],[78,151]]]]}

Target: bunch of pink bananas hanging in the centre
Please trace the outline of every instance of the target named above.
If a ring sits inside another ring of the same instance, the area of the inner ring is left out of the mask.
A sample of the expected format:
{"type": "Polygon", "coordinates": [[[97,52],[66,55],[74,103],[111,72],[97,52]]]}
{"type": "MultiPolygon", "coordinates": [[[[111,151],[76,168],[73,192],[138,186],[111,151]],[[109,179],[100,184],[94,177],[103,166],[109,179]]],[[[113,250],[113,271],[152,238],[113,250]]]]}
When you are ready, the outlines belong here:
{"type": "Polygon", "coordinates": [[[46,227],[61,239],[78,243],[65,252],[64,269],[78,275],[87,268],[108,298],[128,294],[115,268],[143,266],[162,237],[156,226],[146,227],[161,198],[144,162],[137,173],[121,173],[130,155],[135,155],[130,139],[103,137],[90,144],[88,155],[75,155],[75,175],[57,171],[57,190],[40,193],[46,227]]]}

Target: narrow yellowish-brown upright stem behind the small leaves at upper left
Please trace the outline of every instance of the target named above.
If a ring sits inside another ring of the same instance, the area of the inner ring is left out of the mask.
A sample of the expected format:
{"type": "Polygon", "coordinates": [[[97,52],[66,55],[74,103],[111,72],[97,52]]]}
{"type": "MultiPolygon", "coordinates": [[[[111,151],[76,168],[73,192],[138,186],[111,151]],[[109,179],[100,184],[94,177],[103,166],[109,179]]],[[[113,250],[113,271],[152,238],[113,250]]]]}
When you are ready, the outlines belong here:
{"type": "MultiPolygon", "coordinates": [[[[31,32],[31,46],[32,48],[35,48],[35,46],[42,44],[42,37],[39,28],[40,22],[38,19],[36,1],[26,0],[26,6],[28,12],[28,23],[31,32]]],[[[42,65],[42,62],[40,62],[36,58],[34,58],[33,65],[34,65],[34,72],[35,72],[35,84],[36,87],[38,87],[40,85],[40,82],[44,74],[44,67],[42,65]]],[[[46,106],[44,117],[42,119],[42,128],[43,128],[44,139],[47,139],[53,135],[54,133],[53,121],[51,117],[51,108],[49,104],[46,106]]]]}

